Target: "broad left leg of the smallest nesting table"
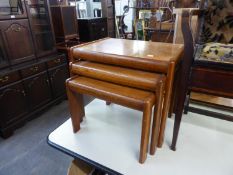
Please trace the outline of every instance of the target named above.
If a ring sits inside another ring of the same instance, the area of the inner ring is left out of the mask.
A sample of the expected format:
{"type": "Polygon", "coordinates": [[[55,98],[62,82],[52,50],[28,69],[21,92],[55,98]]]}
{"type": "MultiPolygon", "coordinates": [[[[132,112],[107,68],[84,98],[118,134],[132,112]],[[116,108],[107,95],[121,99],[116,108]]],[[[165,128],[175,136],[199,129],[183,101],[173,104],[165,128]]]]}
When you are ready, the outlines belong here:
{"type": "Polygon", "coordinates": [[[80,122],[82,121],[82,118],[85,116],[83,95],[70,90],[68,82],[66,83],[66,92],[69,102],[73,132],[76,133],[80,130],[80,122]]]}

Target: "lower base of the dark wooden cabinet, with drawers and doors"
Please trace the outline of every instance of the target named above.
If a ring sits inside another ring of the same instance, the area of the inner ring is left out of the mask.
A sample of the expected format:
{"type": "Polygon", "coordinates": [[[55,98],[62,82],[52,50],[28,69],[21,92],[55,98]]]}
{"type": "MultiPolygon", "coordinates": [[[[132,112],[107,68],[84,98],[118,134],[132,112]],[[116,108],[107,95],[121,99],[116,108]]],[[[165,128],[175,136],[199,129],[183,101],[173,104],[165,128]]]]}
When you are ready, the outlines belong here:
{"type": "Polygon", "coordinates": [[[65,55],[53,55],[17,71],[0,74],[0,134],[10,136],[20,123],[65,97],[69,77],[65,55]]]}

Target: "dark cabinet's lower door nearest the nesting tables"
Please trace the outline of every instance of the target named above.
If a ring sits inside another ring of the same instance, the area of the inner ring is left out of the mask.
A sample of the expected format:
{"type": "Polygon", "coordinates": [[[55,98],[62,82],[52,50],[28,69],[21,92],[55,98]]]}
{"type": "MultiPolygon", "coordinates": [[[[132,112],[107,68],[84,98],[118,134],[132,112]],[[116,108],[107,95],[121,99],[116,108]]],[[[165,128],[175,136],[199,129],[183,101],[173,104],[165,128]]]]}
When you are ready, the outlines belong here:
{"type": "Polygon", "coordinates": [[[66,93],[65,81],[69,77],[67,65],[62,65],[49,71],[54,98],[66,93]]]}

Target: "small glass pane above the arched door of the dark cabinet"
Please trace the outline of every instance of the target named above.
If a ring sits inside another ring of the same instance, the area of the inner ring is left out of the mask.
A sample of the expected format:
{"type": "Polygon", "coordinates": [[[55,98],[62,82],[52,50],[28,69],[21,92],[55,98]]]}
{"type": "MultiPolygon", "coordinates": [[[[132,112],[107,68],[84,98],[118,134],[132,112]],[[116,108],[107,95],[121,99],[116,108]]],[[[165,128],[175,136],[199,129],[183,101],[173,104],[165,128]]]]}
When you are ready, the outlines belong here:
{"type": "Polygon", "coordinates": [[[22,15],[23,12],[21,0],[0,0],[0,15],[22,15]]]}

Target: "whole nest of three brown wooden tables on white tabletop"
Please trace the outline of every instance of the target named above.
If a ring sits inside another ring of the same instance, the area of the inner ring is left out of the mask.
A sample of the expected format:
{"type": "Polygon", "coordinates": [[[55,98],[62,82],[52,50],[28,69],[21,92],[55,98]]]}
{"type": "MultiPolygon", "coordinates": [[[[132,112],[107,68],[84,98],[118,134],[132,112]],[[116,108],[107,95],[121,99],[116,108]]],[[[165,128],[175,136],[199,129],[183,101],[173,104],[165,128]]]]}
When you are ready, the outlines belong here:
{"type": "Polygon", "coordinates": [[[182,53],[183,45],[111,38],[71,48],[70,71],[74,76],[67,81],[67,93],[74,132],[85,116],[81,94],[141,110],[139,162],[143,163],[154,105],[150,153],[162,146],[174,73],[182,53]]]}

